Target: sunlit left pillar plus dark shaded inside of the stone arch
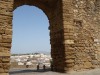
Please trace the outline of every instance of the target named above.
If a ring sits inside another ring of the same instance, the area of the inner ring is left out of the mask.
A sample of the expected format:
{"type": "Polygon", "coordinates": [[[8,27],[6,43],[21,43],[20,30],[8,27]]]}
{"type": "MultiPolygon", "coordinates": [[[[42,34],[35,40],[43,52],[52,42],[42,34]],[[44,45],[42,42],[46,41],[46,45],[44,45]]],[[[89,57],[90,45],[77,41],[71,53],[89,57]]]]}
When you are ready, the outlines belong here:
{"type": "Polygon", "coordinates": [[[1,1],[0,4],[3,4],[2,12],[0,13],[0,19],[2,19],[2,29],[0,30],[0,45],[2,47],[1,56],[1,73],[8,73],[10,67],[10,48],[12,42],[12,12],[19,6],[22,5],[33,5],[39,7],[47,15],[50,22],[50,43],[51,43],[51,55],[53,58],[54,69],[55,71],[63,71],[63,61],[64,57],[62,50],[63,46],[63,24],[62,24],[62,3],[61,0],[10,0],[10,1],[1,1]],[[60,6],[60,7],[59,7],[60,6]],[[2,32],[1,32],[2,31],[2,32]],[[58,51],[59,49],[59,51],[58,51]],[[62,51],[62,52],[61,52],[62,51]],[[5,66],[4,66],[5,65],[5,66]],[[59,66],[58,66],[59,65],[59,66]],[[4,66],[4,67],[3,67],[4,66]]]}

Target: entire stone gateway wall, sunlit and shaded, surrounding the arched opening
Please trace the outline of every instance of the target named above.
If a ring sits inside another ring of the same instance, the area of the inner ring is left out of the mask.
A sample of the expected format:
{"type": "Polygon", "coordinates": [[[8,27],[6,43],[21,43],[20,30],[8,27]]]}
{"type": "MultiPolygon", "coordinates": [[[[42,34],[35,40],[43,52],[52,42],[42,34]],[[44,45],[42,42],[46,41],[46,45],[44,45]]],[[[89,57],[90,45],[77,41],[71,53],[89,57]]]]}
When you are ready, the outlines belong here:
{"type": "Polygon", "coordinates": [[[0,0],[0,73],[9,72],[12,12],[21,5],[42,9],[50,21],[54,70],[100,66],[99,0],[0,0]]]}

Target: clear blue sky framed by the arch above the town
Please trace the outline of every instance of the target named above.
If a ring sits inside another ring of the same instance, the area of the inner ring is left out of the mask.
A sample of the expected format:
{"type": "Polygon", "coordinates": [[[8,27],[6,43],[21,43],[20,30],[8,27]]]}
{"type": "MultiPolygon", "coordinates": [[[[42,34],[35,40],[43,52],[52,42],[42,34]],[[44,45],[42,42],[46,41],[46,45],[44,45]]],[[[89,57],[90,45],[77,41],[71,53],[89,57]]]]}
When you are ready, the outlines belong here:
{"type": "Polygon", "coordinates": [[[50,53],[49,20],[35,7],[23,5],[13,11],[11,53],[50,53]]]}

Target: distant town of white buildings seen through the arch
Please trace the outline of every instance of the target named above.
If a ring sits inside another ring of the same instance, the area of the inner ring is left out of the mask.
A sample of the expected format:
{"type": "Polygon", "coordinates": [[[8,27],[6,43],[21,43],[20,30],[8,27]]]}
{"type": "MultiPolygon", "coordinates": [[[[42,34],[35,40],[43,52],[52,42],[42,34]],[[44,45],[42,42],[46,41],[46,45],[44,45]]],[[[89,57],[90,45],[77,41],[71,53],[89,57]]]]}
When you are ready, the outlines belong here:
{"type": "Polygon", "coordinates": [[[45,65],[47,68],[49,68],[51,60],[52,58],[50,54],[12,54],[10,63],[11,68],[37,68],[37,65],[40,67],[45,65]]]}

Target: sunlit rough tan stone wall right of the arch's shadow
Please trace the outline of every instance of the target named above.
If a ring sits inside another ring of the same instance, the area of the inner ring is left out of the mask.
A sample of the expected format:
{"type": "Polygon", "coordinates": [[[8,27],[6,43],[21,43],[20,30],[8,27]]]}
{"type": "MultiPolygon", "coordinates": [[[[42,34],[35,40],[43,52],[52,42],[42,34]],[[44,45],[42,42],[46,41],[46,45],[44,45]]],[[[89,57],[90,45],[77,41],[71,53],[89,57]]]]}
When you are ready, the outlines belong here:
{"type": "Polygon", "coordinates": [[[65,71],[100,66],[99,0],[63,0],[65,71]]]}

